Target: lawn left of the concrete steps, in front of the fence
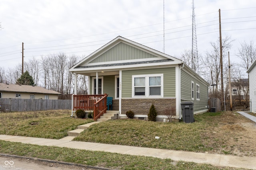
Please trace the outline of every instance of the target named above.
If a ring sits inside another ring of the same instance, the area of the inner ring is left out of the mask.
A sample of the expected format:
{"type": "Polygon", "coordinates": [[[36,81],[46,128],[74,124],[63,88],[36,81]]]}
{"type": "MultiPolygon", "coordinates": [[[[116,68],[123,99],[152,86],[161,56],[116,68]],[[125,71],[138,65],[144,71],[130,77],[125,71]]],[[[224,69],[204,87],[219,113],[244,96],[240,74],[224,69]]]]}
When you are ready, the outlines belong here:
{"type": "Polygon", "coordinates": [[[68,110],[0,113],[0,134],[61,139],[78,125],[90,123],[92,119],[70,117],[68,110]]]}

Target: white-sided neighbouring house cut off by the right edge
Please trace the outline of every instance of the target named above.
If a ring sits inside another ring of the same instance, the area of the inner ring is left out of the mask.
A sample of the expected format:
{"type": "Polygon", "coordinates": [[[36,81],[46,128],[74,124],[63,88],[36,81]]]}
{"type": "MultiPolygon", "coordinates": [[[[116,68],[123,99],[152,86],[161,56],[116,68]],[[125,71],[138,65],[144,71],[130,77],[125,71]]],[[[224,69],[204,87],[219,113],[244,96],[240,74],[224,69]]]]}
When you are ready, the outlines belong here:
{"type": "Polygon", "coordinates": [[[252,63],[247,72],[249,74],[250,86],[250,111],[256,113],[256,60],[252,63]]]}

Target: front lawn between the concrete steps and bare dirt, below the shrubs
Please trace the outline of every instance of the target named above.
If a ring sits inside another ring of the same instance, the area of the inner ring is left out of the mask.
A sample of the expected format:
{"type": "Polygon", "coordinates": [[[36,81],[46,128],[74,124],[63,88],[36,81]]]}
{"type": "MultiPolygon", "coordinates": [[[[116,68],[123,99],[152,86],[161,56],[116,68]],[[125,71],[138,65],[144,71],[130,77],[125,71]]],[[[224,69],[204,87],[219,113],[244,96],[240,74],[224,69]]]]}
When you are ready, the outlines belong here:
{"type": "Polygon", "coordinates": [[[198,132],[204,129],[204,123],[162,123],[119,119],[93,125],[74,141],[194,152],[212,150],[210,147],[202,146],[202,138],[198,132]],[[160,139],[156,140],[156,136],[160,139]]]}

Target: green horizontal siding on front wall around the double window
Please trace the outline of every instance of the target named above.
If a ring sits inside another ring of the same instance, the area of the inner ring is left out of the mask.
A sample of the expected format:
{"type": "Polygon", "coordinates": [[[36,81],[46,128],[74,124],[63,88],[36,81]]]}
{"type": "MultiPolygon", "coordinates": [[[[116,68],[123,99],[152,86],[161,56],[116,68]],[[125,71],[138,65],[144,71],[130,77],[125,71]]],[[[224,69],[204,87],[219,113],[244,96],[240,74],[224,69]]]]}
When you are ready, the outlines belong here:
{"type": "Polygon", "coordinates": [[[175,98],[175,67],[122,71],[122,98],[132,98],[132,76],[164,74],[164,98],[175,98]]]}

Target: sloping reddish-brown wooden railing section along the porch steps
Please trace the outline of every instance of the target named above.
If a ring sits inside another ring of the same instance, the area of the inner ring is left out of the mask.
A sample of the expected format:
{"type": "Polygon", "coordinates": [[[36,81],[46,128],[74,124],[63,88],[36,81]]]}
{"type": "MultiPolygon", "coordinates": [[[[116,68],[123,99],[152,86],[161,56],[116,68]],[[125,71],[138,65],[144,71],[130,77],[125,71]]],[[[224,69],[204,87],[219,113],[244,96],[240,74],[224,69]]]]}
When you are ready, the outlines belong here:
{"type": "Polygon", "coordinates": [[[107,107],[107,97],[108,95],[105,94],[100,100],[98,100],[94,105],[93,109],[93,119],[96,121],[100,116],[106,113],[107,107]]]}

